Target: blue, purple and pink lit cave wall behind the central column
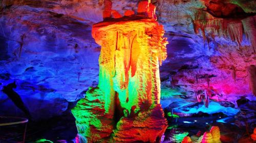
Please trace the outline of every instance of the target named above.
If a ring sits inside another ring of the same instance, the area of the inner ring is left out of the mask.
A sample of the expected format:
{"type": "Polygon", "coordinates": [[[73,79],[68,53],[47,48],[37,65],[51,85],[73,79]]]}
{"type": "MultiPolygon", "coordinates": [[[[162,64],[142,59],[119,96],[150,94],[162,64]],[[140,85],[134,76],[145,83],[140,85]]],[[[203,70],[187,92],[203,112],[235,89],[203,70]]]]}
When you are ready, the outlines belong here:
{"type": "MultiPolygon", "coordinates": [[[[253,80],[246,69],[256,63],[254,1],[152,3],[169,42],[160,67],[163,85],[192,95],[207,89],[217,95],[212,99],[233,103],[252,95],[253,80]],[[224,4],[232,7],[215,11],[224,4]],[[230,13],[237,17],[230,19],[230,13]]],[[[122,0],[113,1],[112,7],[124,15],[125,10],[137,11],[137,5],[122,0]]],[[[22,97],[82,98],[98,83],[100,46],[91,29],[103,19],[103,8],[103,1],[96,0],[1,1],[1,88],[15,80],[22,97]]]]}

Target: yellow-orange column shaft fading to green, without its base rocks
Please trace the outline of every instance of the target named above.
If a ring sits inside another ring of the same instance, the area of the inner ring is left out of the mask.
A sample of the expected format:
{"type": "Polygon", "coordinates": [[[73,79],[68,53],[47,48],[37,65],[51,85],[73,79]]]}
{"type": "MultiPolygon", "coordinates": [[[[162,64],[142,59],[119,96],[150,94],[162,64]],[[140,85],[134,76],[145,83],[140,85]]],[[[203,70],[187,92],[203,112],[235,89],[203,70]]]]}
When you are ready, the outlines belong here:
{"type": "Polygon", "coordinates": [[[102,47],[98,86],[106,94],[106,113],[113,114],[115,95],[130,114],[160,103],[159,63],[166,58],[167,43],[163,34],[154,19],[93,26],[92,36],[102,47]]]}

